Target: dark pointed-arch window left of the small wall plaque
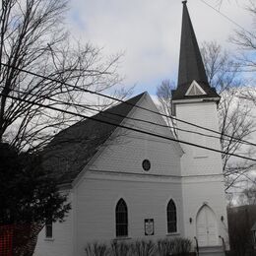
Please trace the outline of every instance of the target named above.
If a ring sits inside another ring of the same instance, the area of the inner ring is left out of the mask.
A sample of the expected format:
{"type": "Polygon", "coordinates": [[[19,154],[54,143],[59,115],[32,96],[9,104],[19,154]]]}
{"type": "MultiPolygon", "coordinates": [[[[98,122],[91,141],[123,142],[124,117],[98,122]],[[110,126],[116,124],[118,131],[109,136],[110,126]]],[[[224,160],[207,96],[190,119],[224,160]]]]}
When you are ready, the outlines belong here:
{"type": "Polygon", "coordinates": [[[120,199],[115,208],[116,236],[128,235],[128,211],[126,203],[120,199]]]}

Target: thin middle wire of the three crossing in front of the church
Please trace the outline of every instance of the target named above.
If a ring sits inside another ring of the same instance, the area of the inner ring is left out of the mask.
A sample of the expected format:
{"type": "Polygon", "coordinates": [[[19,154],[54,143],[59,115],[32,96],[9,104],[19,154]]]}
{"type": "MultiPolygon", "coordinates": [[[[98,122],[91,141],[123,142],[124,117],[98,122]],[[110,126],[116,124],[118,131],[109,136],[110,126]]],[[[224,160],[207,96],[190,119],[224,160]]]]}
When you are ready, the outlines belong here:
{"type": "MultiPolygon", "coordinates": [[[[3,88],[3,87],[0,86],[0,88],[3,88]]],[[[15,93],[18,93],[18,94],[37,96],[35,94],[28,93],[28,92],[25,92],[25,91],[19,91],[19,90],[15,90],[15,89],[13,89],[12,91],[15,92],[15,93]]],[[[200,133],[200,132],[196,132],[196,131],[190,131],[190,130],[181,129],[181,128],[178,128],[178,127],[163,125],[163,124],[160,124],[160,123],[156,123],[156,122],[152,122],[152,121],[148,121],[148,120],[143,120],[143,119],[139,119],[139,118],[135,118],[135,117],[125,116],[125,115],[122,115],[122,114],[117,114],[117,113],[110,112],[109,111],[110,109],[99,110],[99,109],[96,109],[94,107],[90,107],[90,106],[86,106],[86,105],[78,104],[78,103],[74,103],[74,102],[66,102],[64,100],[52,98],[52,97],[49,97],[49,96],[37,96],[37,97],[45,98],[45,99],[48,99],[48,100],[51,100],[51,101],[54,101],[54,102],[60,103],[60,104],[65,104],[65,105],[75,106],[75,107],[81,107],[81,108],[84,108],[84,109],[95,111],[97,113],[107,113],[107,114],[110,114],[110,115],[113,115],[113,116],[118,116],[118,117],[122,117],[122,118],[125,118],[125,119],[133,120],[133,121],[138,121],[138,122],[147,123],[147,124],[153,124],[153,125],[157,125],[157,126],[160,126],[160,127],[163,127],[163,128],[167,128],[167,129],[171,128],[171,129],[175,129],[175,130],[182,131],[182,132],[197,134],[197,135],[200,135],[200,136],[215,138],[215,139],[221,140],[221,137],[218,137],[218,136],[208,135],[208,134],[204,134],[204,133],[200,133]]],[[[225,139],[225,138],[223,138],[223,140],[227,141],[227,142],[230,141],[230,140],[225,139]]],[[[252,143],[242,143],[242,142],[241,142],[241,144],[253,145],[252,143]]],[[[254,146],[256,146],[256,145],[254,145],[254,146]]]]}

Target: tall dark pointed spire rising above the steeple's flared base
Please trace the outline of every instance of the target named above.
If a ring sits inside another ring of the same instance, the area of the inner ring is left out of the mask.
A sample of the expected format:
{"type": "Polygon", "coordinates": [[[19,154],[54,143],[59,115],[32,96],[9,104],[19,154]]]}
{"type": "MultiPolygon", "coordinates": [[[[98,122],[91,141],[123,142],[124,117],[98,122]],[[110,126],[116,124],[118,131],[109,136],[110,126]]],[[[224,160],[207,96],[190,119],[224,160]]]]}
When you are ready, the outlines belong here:
{"type": "Polygon", "coordinates": [[[187,1],[183,1],[182,29],[179,53],[178,87],[197,83],[208,84],[202,56],[187,10],[187,1]]]}

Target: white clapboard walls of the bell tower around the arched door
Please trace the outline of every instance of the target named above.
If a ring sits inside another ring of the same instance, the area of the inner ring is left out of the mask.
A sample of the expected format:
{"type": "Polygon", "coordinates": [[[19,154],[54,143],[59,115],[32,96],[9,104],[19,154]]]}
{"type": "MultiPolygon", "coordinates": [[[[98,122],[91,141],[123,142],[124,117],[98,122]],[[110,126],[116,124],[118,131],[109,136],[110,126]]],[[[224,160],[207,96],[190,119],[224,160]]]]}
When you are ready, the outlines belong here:
{"type": "MultiPolygon", "coordinates": [[[[177,104],[176,116],[187,122],[219,131],[217,103],[215,101],[177,104]]],[[[220,137],[213,132],[181,122],[177,122],[177,127],[220,137]]],[[[204,137],[182,131],[178,131],[178,137],[180,140],[221,150],[221,142],[218,138],[204,137]]],[[[182,145],[182,149],[185,153],[181,158],[185,235],[194,240],[194,236],[197,235],[197,215],[200,208],[207,204],[216,216],[218,243],[222,245],[222,239],[219,237],[221,235],[225,239],[226,248],[228,248],[222,156],[220,153],[187,145],[182,145]],[[192,223],[189,220],[192,220],[192,223]]]]}

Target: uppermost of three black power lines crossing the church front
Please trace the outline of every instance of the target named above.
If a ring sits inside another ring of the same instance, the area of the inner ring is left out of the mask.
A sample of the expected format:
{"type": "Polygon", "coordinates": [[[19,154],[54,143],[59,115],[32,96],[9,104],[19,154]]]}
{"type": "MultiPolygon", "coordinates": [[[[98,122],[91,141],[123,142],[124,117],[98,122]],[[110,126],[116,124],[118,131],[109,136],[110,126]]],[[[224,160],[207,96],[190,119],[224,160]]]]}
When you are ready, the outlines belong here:
{"type": "Polygon", "coordinates": [[[45,76],[42,76],[42,75],[39,75],[39,74],[36,74],[36,73],[33,73],[32,71],[28,71],[28,70],[25,70],[25,69],[21,69],[21,68],[18,68],[18,67],[14,67],[13,65],[9,65],[9,64],[5,64],[3,62],[0,62],[3,66],[6,66],[6,67],[12,67],[14,69],[17,69],[21,72],[25,72],[27,74],[30,74],[32,76],[36,76],[36,77],[39,77],[39,78],[42,78],[42,79],[45,79],[45,80],[49,80],[49,81],[52,81],[52,82],[55,82],[55,83],[58,83],[58,84],[62,84],[62,85],[65,85],[65,86],[68,86],[68,87],[71,87],[73,89],[79,89],[85,93],[88,93],[88,94],[92,94],[92,95],[96,95],[96,96],[103,96],[103,97],[106,97],[106,98],[109,98],[109,99],[112,99],[112,100],[115,100],[115,101],[119,101],[119,102],[122,102],[122,103],[125,103],[125,104],[128,104],[128,105],[131,105],[133,107],[137,107],[137,108],[140,108],[140,109],[143,109],[143,110],[146,110],[146,111],[149,111],[149,112],[152,112],[152,113],[155,113],[155,114],[158,114],[158,115],[161,115],[161,116],[164,116],[166,118],[170,118],[170,119],[173,119],[175,121],[178,121],[178,122],[181,122],[181,123],[185,123],[185,124],[188,124],[188,125],[191,125],[191,126],[194,126],[196,128],[200,128],[200,129],[203,129],[203,130],[206,130],[206,131],[209,131],[209,132],[213,132],[215,134],[219,134],[221,136],[225,136],[227,138],[230,138],[232,140],[236,140],[238,142],[243,142],[245,144],[248,144],[248,145],[253,145],[253,146],[256,146],[256,144],[253,144],[251,142],[248,142],[248,141],[245,141],[245,140],[242,140],[242,139],[237,139],[233,136],[230,136],[230,135],[227,135],[227,134],[224,134],[224,133],[221,133],[219,131],[215,131],[213,129],[210,129],[210,128],[206,128],[206,127],[203,127],[203,126],[200,126],[200,125],[197,125],[197,124],[194,124],[194,123],[190,123],[190,122],[187,122],[185,120],[182,120],[182,119],[179,119],[179,118],[176,118],[176,117],[173,117],[171,115],[166,115],[166,114],[160,114],[160,112],[158,111],[154,111],[152,109],[148,109],[146,107],[143,107],[143,106],[139,106],[139,105],[136,105],[136,104],[132,104],[130,102],[127,102],[125,100],[122,100],[122,99],[119,99],[119,98],[116,98],[114,96],[106,96],[106,95],[103,95],[101,93],[97,93],[97,92],[94,92],[94,91],[91,91],[91,90],[88,90],[88,89],[85,89],[85,88],[82,88],[82,87],[79,87],[79,86],[73,86],[69,83],[66,83],[66,82],[63,82],[63,81],[59,81],[57,79],[53,79],[53,78],[50,78],[50,77],[45,77],[45,76]]]}

